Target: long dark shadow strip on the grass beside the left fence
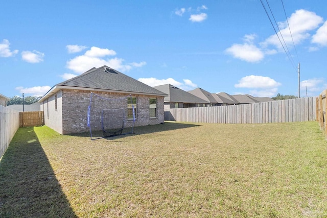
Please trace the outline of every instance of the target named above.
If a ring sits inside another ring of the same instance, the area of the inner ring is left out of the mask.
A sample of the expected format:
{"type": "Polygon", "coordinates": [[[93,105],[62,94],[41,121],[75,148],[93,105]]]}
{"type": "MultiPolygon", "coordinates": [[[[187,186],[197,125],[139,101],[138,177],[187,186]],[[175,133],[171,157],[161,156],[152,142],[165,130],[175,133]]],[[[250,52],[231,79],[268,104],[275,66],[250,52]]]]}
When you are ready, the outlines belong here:
{"type": "Polygon", "coordinates": [[[19,128],[0,162],[0,217],[77,217],[33,127],[19,128]]]}

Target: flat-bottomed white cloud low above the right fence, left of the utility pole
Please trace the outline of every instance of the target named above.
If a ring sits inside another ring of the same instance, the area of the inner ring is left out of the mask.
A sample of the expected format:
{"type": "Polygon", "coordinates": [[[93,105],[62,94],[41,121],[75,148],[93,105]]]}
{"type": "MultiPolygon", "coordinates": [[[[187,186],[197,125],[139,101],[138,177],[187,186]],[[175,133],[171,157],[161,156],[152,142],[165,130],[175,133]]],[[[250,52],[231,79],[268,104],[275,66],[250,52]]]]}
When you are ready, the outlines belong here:
{"type": "Polygon", "coordinates": [[[276,82],[270,77],[250,75],[243,77],[239,80],[239,83],[234,86],[236,88],[274,88],[280,85],[282,84],[276,82]]]}

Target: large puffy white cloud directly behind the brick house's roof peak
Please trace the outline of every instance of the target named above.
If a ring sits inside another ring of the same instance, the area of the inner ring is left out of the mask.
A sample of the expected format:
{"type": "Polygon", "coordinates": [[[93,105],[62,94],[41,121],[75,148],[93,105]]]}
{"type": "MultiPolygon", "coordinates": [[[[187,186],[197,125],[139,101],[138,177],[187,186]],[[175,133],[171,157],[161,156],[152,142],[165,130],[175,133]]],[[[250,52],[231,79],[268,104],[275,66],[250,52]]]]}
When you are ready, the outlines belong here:
{"type": "Polygon", "coordinates": [[[101,49],[99,47],[92,46],[90,50],[86,51],[84,55],[77,56],[66,63],[68,69],[73,70],[79,74],[82,74],[86,70],[92,67],[100,67],[107,65],[113,69],[119,71],[128,71],[133,67],[142,67],[146,64],[145,61],[130,64],[124,64],[122,58],[106,58],[106,56],[116,55],[116,52],[108,49],[101,49]]]}

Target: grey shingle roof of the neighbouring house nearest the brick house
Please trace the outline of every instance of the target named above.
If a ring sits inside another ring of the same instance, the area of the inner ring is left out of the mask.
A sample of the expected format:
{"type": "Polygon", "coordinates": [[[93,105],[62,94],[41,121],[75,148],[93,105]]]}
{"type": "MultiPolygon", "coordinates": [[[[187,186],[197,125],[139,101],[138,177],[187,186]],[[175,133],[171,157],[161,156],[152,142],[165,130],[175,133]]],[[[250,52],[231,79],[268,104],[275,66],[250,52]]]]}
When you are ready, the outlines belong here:
{"type": "Polygon", "coordinates": [[[203,103],[207,104],[208,101],[205,101],[203,99],[200,99],[199,97],[184,91],[176,86],[173,86],[171,84],[165,84],[160,86],[154,86],[153,88],[162,91],[168,96],[165,97],[165,102],[182,102],[182,103],[203,103]]]}

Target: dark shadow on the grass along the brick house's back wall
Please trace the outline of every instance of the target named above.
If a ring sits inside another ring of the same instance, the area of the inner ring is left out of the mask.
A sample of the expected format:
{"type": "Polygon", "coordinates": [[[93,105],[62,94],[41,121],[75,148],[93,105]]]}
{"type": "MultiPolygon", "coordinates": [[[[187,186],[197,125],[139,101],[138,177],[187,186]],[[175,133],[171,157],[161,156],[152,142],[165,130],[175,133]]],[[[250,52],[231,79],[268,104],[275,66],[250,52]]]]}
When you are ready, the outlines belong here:
{"type": "MultiPolygon", "coordinates": [[[[175,122],[165,122],[162,124],[157,125],[148,125],[148,126],[139,126],[134,127],[133,134],[124,134],[131,132],[131,128],[125,128],[122,135],[113,136],[113,137],[106,137],[105,139],[116,139],[122,137],[129,137],[134,134],[142,135],[142,134],[160,134],[159,132],[162,131],[170,131],[176,129],[184,129],[184,128],[191,128],[191,127],[198,127],[201,125],[194,125],[194,124],[186,124],[186,123],[175,123],[175,122]]],[[[90,137],[90,132],[83,132],[83,133],[75,133],[75,134],[68,134],[70,136],[79,136],[79,137],[90,137]]],[[[102,131],[92,131],[92,137],[98,138],[103,137],[102,131]]]]}

